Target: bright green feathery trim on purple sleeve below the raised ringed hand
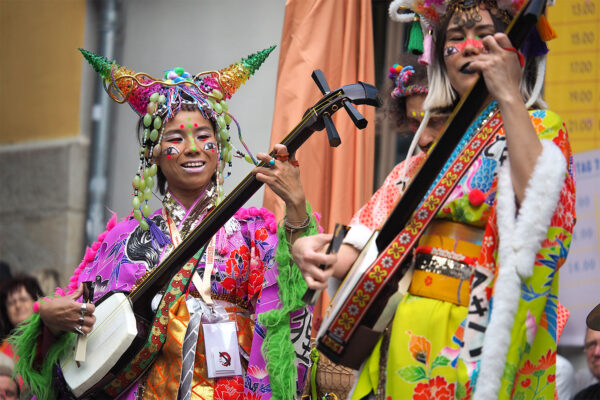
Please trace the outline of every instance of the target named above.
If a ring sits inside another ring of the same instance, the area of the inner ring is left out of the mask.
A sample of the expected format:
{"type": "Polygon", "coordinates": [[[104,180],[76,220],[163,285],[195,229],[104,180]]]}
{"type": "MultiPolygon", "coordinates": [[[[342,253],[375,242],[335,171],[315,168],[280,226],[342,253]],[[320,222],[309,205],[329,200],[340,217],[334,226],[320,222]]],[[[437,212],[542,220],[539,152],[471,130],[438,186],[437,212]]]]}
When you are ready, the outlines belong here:
{"type": "MultiPolygon", "coordinates": [[[[313,217],[310,205],[306,204],[306,212],[311,216],[310,225],[301,236],[319,233],[317,222],[313,217]]],[[[271,310],[258,316],[258,321],[266,329],[266,337],[262,346],[267,361],[267,371],[273,399],[293,399],[296,397],[296,351],[290,339],[290,313],[306,307],[302,296],[307,289],[306,282],[300,269],[294,263],[290,253],[290,243],[287,240],[283,224],[277,230],[279,243],[275,253],[278,264],[280,310],[271,310]]]]}

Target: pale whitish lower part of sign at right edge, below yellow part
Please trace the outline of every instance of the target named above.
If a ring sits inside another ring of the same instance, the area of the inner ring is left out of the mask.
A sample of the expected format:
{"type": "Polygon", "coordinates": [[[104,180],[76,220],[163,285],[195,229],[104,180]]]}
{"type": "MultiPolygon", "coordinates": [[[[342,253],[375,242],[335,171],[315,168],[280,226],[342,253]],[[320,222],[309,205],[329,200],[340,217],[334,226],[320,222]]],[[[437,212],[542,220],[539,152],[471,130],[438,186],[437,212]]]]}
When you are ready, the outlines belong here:
{"type": "MultiPolygon", "coordinates": [[[[567,122],[568,123],[568,122],[567,122]]],[[[560,269],[559,300],[569,309],[560,344],[581,346],[587,314],[600,303],[600,150],[575,154],[577,224],[560,269]]]]}

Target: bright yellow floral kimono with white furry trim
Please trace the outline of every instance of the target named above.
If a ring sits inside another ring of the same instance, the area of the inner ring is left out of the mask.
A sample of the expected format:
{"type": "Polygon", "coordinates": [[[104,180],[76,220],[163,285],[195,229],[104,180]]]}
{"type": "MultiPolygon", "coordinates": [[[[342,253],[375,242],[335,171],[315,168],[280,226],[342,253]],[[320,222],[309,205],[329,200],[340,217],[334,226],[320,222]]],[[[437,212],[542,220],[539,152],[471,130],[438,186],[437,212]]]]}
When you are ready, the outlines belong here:
{"type": "MultiPolygon", "coordinates": [[[[561,118],[535,110],[530,119],[543,152],[522,204],[515,204],[500,128],[432,223],[458,223],[479,236],[457,240],[448,249],[431,244],[435,238],[426,231],[422,241],[429,243],[420,242],[416,249],[417,261],[427,253],[470,267],[454,297],[459,299],[421,295],[448,277],[415,267],[411,289],[384,334],[386,343],[382,346],[380,340],[367,359],[352,399],[377,393],[382,382],[386,400],[469,399],[476,391],[486,399],[555,397],[556,347],[566,322],[566,310],[558,303],[558,270],[575,224],[575,184],[561,118]],[[457,243],[464,251],[456,250],[457,243]]],[[[405,161],[411,175],[424,159],[418,155],[405,161]]],[[[354,216],[351,225],[357,234],[385,221],[400,196],[403,168],[396,166],[354,216]]]]}

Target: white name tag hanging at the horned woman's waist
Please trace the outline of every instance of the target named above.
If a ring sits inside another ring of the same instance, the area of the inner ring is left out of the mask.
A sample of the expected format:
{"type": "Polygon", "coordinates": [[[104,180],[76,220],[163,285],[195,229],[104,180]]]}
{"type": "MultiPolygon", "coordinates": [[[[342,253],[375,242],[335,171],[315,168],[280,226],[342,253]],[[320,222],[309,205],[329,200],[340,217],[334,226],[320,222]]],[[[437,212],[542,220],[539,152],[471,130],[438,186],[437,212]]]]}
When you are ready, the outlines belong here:
{"type": "Polygon", "coordinates": [[[235,321],[203,324],[209,378],[242,374],[235,321]]]}

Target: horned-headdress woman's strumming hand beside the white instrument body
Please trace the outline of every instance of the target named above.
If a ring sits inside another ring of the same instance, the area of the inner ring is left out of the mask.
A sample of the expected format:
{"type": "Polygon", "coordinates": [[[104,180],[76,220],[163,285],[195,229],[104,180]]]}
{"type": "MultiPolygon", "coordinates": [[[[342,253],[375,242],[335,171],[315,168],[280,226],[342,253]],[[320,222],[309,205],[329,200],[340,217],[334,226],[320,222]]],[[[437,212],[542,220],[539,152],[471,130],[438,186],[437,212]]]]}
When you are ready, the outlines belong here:
{"type": "Polygon", "coordinates": [[[58,296],[50,301],[40,303],[40,317],[50,331],[57,335],[62,332],[88,334],[96,317],[93,315],[96,307],[91,303],[81,303],[83,284],[76,291],[64,297],[58,296]]]}

